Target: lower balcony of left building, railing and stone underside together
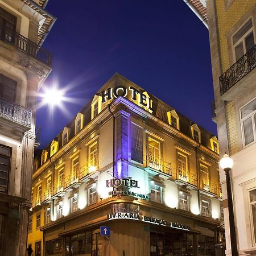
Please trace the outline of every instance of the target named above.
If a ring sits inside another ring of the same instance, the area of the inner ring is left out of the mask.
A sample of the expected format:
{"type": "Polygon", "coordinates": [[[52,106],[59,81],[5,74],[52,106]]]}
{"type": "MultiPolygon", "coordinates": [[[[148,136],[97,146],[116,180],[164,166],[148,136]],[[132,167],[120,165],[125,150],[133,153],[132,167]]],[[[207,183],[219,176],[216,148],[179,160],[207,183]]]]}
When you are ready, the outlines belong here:
{"type": "Polygon", "coordinates": [[[0,100],[1,133],[7,137],[21,139],[31,129],[32,111],[23,106],[0,100]]]}

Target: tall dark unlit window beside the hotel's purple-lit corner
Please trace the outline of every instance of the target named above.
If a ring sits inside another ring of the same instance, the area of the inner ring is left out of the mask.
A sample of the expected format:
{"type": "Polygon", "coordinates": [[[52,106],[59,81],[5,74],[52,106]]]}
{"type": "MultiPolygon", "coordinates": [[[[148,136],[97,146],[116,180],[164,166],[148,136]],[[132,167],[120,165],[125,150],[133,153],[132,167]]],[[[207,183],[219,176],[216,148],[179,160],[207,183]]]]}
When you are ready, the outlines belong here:
{"type": "Polygon", "coordinates": [[[143,163],[142,128],[134,123],[131,123],[131,159],[143,163]]]}

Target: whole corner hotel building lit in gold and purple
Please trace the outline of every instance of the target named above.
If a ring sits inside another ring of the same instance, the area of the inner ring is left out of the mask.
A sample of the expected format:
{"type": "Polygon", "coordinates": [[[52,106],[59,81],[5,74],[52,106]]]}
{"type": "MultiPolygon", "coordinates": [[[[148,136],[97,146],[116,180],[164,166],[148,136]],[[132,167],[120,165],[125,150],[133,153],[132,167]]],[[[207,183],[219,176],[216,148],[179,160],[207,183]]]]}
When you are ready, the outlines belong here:
{"type": "Polygon", "coordinates": [[[217,160],[216,137],[115,74],[37,153],[28,244],[36,256],[213,255],[217,160]]]}

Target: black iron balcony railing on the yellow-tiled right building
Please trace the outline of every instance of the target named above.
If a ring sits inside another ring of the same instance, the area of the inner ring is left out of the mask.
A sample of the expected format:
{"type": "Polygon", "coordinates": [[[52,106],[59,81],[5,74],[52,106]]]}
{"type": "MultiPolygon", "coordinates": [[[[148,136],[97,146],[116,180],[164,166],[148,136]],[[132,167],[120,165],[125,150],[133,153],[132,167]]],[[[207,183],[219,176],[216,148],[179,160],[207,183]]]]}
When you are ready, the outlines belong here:
{"type": "Polygon", "coordinates": [[[256,45],[245,53],[220,76],[220,93],[227,92],[233,85],[256,67],[256,45]]]}

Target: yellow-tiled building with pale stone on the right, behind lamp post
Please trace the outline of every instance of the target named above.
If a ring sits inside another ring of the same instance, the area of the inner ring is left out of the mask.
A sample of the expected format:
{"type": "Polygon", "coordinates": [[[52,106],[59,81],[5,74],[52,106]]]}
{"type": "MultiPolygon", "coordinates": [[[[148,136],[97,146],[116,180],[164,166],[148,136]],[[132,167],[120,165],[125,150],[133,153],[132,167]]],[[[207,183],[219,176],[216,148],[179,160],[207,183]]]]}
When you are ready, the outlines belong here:
{"type": "MultiPolygon", "coordinates": [[[[191,2],[197,14],[207,10],[220,156],[227,152],[234,161],[232,188],[238,254],[256,255],[256,1],[191,2]]],[[[222,170],[220,181],[226,255],[231,255],[222,170]]]]}

